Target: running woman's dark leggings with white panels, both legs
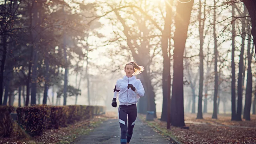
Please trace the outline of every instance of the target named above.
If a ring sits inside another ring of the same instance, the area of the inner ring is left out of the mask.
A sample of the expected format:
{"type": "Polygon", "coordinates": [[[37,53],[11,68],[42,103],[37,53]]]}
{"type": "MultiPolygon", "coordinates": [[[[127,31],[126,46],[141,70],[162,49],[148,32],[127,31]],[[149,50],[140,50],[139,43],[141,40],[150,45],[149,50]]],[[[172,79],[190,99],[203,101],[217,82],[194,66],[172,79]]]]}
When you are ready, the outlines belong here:
{"type": "Polygon", "coordinates": [[[137,118],[137,106],[132,105],[119,105],[118,108],[119,124],[121,128],[121,144],[126,144],[130,142],[133,135],[133,127],[135,125],[135,120],[137,118]],[[127,125],[127,115],[128,115],[128,125],[127,125]]]}

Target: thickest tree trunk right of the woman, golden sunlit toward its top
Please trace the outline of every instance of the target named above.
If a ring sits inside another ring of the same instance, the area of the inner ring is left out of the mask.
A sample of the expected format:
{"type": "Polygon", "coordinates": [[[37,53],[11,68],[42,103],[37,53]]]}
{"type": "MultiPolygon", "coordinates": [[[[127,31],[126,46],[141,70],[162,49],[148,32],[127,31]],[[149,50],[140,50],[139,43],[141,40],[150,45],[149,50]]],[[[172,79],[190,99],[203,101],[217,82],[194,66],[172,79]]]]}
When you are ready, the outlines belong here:
{"type": "MultiPolygon", "coordinates": [[[[181,0],[185,2],[185,0],[181,0]]],[[[174,50],[173,50],[173,83],[171,100],[171,124],[185,126],[184,123],[184,91],[183,91],[183,57],[187,39],[188,25],[194,0],[177,5],[175,16],[174,50]],[[183,17],[180,17],[182,15],[183,17]]]]}

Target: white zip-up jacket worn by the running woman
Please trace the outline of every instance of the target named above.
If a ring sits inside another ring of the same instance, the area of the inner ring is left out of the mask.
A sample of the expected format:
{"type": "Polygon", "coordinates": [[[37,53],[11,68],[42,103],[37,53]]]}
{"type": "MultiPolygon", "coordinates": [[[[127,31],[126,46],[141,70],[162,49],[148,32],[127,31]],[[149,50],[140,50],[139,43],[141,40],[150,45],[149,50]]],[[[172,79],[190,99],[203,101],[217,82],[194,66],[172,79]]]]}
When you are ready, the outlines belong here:
{"type": "Polygon", "coordinates": [[[140,97],[144,96],[145,90],[142,86],[140,79],[136,79],[135,76],[124,76],[116,81],[116,90],[114,90],[114,98],[119,96],[120,105],[132,105],[136,104],[140,97]],[[132,84],[136,90],[127,89],[128,84],[132,84]],[[119,91],[119,92],[118,92],[119,91]]]}

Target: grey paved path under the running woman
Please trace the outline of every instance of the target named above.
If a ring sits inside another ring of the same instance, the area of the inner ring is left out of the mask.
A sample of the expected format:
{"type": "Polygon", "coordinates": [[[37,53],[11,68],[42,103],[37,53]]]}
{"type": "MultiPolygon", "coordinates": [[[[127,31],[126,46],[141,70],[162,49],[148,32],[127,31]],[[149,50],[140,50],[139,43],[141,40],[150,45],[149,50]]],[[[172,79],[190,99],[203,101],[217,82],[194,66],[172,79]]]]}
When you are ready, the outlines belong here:
{"type": "MultiPolygon", "coordinates": [[[[118,119],[109,119],[89,135],[78,137],[73,144],[120,144],[120,134],[118,119]]],[[[130,144],[170,144],[170,142],[168,138],[159,135],[137,118],[130,144]]]]}

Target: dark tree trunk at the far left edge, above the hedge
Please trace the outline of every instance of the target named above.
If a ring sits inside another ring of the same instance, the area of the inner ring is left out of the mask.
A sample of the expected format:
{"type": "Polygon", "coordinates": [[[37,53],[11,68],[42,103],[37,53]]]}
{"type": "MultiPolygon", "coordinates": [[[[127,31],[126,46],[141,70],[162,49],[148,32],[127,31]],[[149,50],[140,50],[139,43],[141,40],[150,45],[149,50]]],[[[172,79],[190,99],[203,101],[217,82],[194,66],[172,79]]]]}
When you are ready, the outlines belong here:
{"type": "Polygon", "coordinates": [[[2,98],[4,93],[4,69],[5,69],[5,60],[6,60],[6,53],[7,53],[6,35],[3,33],[1,37],[2,37],[3,55],[2,55],[1,67],[0,67],[0,105],[2,105],[2,98]]]}

